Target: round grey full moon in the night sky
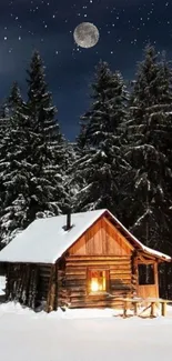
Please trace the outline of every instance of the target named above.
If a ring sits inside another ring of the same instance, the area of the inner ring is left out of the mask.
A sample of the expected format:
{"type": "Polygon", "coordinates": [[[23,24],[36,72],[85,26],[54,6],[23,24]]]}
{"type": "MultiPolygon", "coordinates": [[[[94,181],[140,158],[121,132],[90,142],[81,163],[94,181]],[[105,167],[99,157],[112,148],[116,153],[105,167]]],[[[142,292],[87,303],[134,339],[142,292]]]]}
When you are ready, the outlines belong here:
{"type": "Polygon", "coordinates": [[[99,41],[99,30],[91,22],[82,22],[74,29],[73,38],[79,47],[92,48],[99,41]]]}

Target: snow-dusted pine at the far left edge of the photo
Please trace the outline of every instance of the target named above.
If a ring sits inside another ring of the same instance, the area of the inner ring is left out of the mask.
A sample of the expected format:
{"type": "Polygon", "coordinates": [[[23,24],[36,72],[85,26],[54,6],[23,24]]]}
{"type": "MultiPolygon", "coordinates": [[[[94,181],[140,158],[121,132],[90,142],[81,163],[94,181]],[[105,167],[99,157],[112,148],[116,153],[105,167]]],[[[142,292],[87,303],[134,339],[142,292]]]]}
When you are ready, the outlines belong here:
{"type": "Polygon", "coordinates": [[[3,131],[0,156],[0,247],[22,230],[27,220],[26,104],[17,83],[9,97],[9,127],[3,131]]]}

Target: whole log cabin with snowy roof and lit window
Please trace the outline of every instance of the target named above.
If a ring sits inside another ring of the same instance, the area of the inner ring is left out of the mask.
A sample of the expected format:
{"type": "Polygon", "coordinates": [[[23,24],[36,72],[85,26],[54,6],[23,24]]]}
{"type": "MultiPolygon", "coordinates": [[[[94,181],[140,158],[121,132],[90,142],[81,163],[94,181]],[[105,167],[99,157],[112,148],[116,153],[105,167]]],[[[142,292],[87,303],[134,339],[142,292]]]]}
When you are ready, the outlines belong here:
{"type": "Polygon", "coordinates": [[[0,252],[6,300],[47,312],[158,298],[161,262],[171,257],[143,245],[105,209],[37,219],[0,252]]]}

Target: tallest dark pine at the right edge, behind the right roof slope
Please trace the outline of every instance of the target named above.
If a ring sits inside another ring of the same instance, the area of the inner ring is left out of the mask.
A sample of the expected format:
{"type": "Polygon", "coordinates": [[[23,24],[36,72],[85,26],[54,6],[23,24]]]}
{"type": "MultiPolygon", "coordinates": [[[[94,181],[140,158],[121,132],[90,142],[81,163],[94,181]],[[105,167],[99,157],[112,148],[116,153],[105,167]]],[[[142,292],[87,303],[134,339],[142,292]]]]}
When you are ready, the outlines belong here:
{"type": "Polygon", "coordinates": [[[159,61],[155,49],[148,46],[139,64],[131,96],[125,159],[131,170],[122,190],[125,225],[144,244],[166,250],[170,237],[169,187],[172,182],[169,147],[172,117],[170,116],[170,70],[159,61]]]}

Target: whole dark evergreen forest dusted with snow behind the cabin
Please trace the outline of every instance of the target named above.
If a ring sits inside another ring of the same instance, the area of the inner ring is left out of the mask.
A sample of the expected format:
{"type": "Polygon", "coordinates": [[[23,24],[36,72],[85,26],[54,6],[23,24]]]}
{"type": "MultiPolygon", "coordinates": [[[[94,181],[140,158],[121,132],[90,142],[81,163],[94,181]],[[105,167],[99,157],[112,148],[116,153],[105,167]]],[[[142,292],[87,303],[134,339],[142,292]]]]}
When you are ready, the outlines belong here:
{"type": "MultiPolygon", "coordinates": [[[[38,51],[0,107],[0,249],[34,219],[109,209],[141,242],[172,255],[172,67],[148,44],[129,83],[100,61],[90,108],[62,134],[38,51]]],[[[89,86],[89,84],[88,84],[89,86]]],[[[160,269],[172,298],[172,267],[160,269]]]]}

